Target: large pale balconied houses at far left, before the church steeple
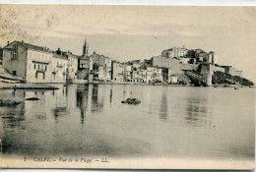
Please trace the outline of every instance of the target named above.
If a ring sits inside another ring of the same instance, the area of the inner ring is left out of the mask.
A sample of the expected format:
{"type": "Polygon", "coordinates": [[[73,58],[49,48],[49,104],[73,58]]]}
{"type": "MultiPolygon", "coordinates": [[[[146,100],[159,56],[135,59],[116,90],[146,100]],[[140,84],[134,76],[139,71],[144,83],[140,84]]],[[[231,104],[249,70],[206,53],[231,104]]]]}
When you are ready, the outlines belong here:
{"type": "Polygon", "coordinates": [[[24,41],[13,41],[3,48],[2,66],[28,83],[66,83],[76,79],[78,59],[69,51],[51,51],[24,41]]]}

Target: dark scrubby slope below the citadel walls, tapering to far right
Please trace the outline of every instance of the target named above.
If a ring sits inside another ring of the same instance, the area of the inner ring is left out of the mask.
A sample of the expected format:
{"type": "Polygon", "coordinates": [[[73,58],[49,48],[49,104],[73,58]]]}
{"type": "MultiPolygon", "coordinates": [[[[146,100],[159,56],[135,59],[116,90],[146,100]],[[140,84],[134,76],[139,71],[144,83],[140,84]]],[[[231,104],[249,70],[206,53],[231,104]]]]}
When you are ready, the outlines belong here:
{"type": "Polygon", "coordinates": [[[244,78],[238,76],[231,76],[230,74],[225,74],[223,72],[214,72],[212,76],[213,85],[241,85],[241,86],[254,86],[254,84],[244,78]]]}

